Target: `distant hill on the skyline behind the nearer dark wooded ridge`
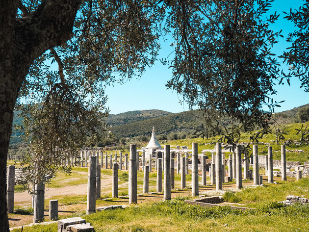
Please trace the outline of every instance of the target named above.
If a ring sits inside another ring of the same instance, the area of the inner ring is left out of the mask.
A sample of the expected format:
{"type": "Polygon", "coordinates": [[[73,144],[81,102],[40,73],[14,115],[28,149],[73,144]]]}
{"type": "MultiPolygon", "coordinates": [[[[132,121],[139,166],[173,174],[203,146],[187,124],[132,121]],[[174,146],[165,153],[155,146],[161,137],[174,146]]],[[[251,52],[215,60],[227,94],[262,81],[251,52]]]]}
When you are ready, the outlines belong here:
{"type": "Polygon", "coordinates": [[[118,125],[125,125],[129,123],[135,123],[147,119],[162,117],[166,115],[173,114],[171,112],[159,110],[159,109],[150,109],[150,110],[134,110],[120,114],[110,114],[105,119],[106,123],[118,125]]]}

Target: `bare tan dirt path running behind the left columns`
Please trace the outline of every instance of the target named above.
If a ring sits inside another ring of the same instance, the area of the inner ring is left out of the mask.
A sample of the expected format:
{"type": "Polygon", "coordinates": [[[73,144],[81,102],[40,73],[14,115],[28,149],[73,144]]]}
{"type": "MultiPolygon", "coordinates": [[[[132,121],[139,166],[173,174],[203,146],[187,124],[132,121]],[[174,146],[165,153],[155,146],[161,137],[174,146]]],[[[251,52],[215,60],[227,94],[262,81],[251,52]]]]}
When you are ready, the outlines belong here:
{"type": "MultiPolygon", "coordinates": [[[[101,176],[101,188],[106,187],[112,183],[112,177],[108,175],[101,176]]],[[[45,188],[45,199],[53,196],[65,196],[65,195],[85,195],[87,194],[87,184],[78,184],[72,186],[65,186],[60,188],[45,188]]],[[[15,193],[14,203],[26,203],[31,202],[31,195],[25,191],[22,193],[15,193]]]]}

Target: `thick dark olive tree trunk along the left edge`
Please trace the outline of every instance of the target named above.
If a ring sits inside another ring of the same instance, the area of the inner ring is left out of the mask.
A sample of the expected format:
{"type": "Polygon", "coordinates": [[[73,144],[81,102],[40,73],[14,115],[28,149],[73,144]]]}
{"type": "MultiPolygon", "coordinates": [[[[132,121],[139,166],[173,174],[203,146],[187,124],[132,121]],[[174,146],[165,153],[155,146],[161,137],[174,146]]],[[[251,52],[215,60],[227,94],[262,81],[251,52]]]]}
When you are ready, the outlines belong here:
{"type": "Polygon", "coordinates": [[[18,0],[0,7],[0,224],[9,231],[6,209],[6,155],[13,110],[31,63],[72,36],[80,0],[43,0],[35,12],[16,18],[18,0]]]}

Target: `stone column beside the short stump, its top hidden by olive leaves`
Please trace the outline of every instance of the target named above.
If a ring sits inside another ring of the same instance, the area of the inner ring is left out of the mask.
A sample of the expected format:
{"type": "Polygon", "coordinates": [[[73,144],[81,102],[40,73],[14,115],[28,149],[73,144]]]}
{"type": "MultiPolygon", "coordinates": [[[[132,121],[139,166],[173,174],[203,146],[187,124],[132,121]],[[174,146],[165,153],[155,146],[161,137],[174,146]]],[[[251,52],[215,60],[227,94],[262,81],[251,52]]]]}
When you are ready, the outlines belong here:
{"type": "Polygon", "coordinates": [[[45,200],[45,184],[39,183],[34,187],[36,194],[34,195],[34,212],[33,223],[44,221],[44,200],[45,200]]]}

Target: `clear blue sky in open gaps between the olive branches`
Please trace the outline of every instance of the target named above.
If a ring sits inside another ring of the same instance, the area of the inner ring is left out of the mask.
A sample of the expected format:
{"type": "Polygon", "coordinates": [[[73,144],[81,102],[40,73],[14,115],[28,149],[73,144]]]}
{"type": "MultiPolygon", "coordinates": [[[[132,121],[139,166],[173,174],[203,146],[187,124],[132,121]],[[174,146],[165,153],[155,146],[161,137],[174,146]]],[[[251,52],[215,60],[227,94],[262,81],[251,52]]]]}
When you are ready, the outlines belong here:
{"type": "MultiPolygon", "coordinates": [[[[294,30],[294,25],[283,19],[283,11],[289,12],[290,8],[299,8],[305,1],[303,0],[275,0],[270,12],[277,11],[280,14],[279,20],[272,26],[275,31],[283,30],[284,38],[279,39],[279,43],[274,48],[274,53],[282,54],[283,50],[288,47],[285,42],[288,32],[294,30]]],[[[158,58],[166,57],[172,50],[169,48],[170,42],[161,43],[161,51],[158,58]]],[[[160,109],[173,113],[188,110],[188,106],[181,105],[179,102],[182,96],[172,90],[167,90],[165,84],[172,76],[171,69],[163,66],[160,62],[156,62],[154,66],[148,69],[140,79],[133,78],[126,83],[114,86],[108,86],[105,89],[108,101],[107,106],[111,114],[118,114],[132,110],[143,109],[160,109]]],[[[277,101],[285,101],[281,103],[280,108],[276,108],[275,112],[281,112],[300,105],[309,103],[309,93],[300,89],[300,81],[296,78],[291,79],[291,86],[286,82],[284,85],[276,86],[277,95],[272,98],[277,101]]],[[[264,110],[268,110],[265,108],[264,110]]]]}

